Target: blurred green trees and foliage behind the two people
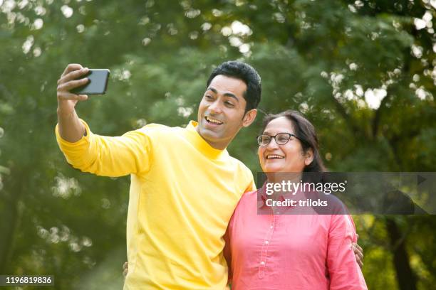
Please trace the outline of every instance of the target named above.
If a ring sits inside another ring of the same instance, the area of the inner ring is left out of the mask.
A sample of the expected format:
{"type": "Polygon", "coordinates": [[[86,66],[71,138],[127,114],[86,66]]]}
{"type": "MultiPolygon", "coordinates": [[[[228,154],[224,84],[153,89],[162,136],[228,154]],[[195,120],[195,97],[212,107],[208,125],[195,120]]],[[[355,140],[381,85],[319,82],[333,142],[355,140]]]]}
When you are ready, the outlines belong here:
{"type": "MultiPolygon", "coordinates": [[[[123,285],[130,178],[76,171],[58,149],[56,81],[68,63],[111,70],[107,94],[77,106],[96,134],[185,126],[212,69],[239,59],[259,71],[263,96],[229,152],[255,175],[261,119],[284,109],[313,122],[331,171],[436,171],[435,9],[435,0],[0,0],[0,274],[52,274],[53,289],[123,285]]],[[[353,218],[369,289],[434,289],[434,215],[353,218]]]]}

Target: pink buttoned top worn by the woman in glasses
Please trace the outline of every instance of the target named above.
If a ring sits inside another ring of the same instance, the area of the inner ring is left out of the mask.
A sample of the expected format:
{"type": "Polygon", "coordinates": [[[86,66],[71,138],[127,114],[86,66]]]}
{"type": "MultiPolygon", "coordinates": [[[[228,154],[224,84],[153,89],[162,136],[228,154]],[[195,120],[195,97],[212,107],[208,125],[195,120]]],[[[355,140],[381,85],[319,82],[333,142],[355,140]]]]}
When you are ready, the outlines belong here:
{"type": "Polygon", "coordinates": [[[229,222],[232,290],[367,289],[351,249],[350,215],[258,215],[258,207],[265,204],[256,191],[245,193],[229,222]]]}

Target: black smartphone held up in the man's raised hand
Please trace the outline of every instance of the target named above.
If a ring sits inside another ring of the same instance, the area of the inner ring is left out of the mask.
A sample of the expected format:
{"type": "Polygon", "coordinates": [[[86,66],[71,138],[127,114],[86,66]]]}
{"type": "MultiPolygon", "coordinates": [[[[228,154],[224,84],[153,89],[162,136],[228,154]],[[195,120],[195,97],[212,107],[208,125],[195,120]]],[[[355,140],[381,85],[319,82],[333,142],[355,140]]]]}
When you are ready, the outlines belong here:
{"type": "MultiPolygon", "coordinates": [[[[104,95],[108,88],[110,70],[107,68],[93,68],[83,77],[88,77],[86,85],[71,90],[76,95],[104,95]]],[[[81,78],[83,78],[81,77],[81,78]]]]}

